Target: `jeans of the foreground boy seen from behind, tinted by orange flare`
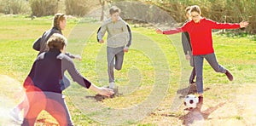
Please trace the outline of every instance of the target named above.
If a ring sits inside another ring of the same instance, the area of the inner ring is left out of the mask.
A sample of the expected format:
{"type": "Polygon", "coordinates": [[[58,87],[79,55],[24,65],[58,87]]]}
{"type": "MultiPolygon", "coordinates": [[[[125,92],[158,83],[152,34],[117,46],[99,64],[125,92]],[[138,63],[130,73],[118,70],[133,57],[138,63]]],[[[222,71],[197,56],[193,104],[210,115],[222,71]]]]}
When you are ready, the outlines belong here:
{"type": "Polygon", "coordinates": [[[54,92],[31,91],[26,92],[28,111],[24,115],[21,126],[33,126],[42,111],[49,112],[59,125],[73,126],[70,113],[62,94],[54,92]]]}

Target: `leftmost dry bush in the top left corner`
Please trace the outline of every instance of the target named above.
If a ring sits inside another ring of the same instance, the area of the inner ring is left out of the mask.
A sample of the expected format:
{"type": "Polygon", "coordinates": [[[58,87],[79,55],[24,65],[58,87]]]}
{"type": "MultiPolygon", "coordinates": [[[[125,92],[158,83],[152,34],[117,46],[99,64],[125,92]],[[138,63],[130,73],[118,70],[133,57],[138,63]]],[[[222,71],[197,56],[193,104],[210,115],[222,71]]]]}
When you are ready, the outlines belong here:
{"type": "Polygon", "coordinates": [[[26,0],[0,0],[0,13],[28,14],[31,12],[26,0]]]}

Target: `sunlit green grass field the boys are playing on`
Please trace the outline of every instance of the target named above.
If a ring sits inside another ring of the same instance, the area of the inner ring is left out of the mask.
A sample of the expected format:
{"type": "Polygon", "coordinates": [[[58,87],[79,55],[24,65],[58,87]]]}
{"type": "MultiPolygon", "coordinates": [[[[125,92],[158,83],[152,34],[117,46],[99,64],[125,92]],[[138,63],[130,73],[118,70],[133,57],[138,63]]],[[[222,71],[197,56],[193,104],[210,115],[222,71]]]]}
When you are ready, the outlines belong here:
{"type": "MultiPolygon", "coordinates": [[[[96,42],[96,30],[101,23],[90,19],[79,20],[70,18],[67,21],[67,29],[63,31],[68,38],[67,50],[73,54],[81,54],[83,60],[75,60],[75,64],[84,77],[98,86],[107,86],[106,44],[96,42]]],[[[32,49],[32,43],[51,27],[52,22],[50,16],[31,20],[22,15],[1,15],[0,22],[0,75],[15,80],[11,84],[8,81],[0,83],[0,96],[14,102],[6,104],[11,108],[20,100],[13,96],[15,89],[21,88],[38,54],[32,49]]],[[[159,35],[155,33],[154,27],[134,24],[131,24],[131,30],[131,49],[125,54],[122,70],[115,72],[119,96],[97,101],[93,97],[94,93],[83,89],[77,83],[72,83],[64,91],[67,95],[67,106],[76,125],[183,124],[183,117],[188,113],[183,112],[183,99],[179,99],[177,90],[188,86],[191,67],[189,61],[184,60],[180,34],[159,35]]],[[[218,62],[234,74],[235,80],[229,82],[224,74],[214,72],[205,62],[204,87],[209,89],[205,93],[205,110],[222,101],[230,102],[234,97],[240,98],[241,95],[236,94],[253,94],[248,87],[253,87],[256,83],[255,40],[214,34],[213,42],[218,62]]],[[[239,110],[243,105],[234,102],[234,110],[239,110]]],[[[2,105],[1,103],[1,107],[2,105]]],[[[225,104],[222,108],[229,107],[229,104],[225,104]]],[[[218,112],[225,113],[224,110],[219,109],[218,112]]],[[[214,119],[224,118],[224,121],[235,120],[233,123],[255,124],[250,118],[255,117],[255,112],[244,115],[236,112],[224,114],[224,117],[214,116],[213,112],[212,115],[213,119],[206,119],[206,123],[212,124],[214,119]]],[[[46,112],[38,120],[38,125],[56,124],[46,112]]]]}

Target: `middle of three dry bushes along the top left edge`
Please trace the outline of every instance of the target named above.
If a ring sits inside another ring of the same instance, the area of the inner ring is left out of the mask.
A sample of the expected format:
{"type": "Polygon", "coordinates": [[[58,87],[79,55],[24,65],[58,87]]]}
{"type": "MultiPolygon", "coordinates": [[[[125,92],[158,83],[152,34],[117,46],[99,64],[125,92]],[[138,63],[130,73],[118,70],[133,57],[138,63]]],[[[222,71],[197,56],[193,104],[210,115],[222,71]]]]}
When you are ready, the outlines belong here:
{"type": "Polygon", "coordinates": [[[58,12],[58,0],[29,0],[32,15],[45,16],[58,12]]]}

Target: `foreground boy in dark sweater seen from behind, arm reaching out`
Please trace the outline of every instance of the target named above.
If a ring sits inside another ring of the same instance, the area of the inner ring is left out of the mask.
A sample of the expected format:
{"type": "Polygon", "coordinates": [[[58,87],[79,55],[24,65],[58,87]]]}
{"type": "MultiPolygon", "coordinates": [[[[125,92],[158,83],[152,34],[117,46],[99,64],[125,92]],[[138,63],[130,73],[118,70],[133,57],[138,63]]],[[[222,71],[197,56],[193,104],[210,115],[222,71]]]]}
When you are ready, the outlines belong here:
{"type": "Polygon", "coordinates": [[[49,51],[38,55],[24,82],[29,108],[22,126],[33,126],[43,110],[55,117],[60,125],[73,125],[61,90],[61,80],[66,71],[74,82],[86,89],[106,96],[113,94],[113,89],[99,88],[77,71],[73,60],[65,54],[67,46],[65,37],[54,33],[49,37],[47,44],[49,51]]]}

